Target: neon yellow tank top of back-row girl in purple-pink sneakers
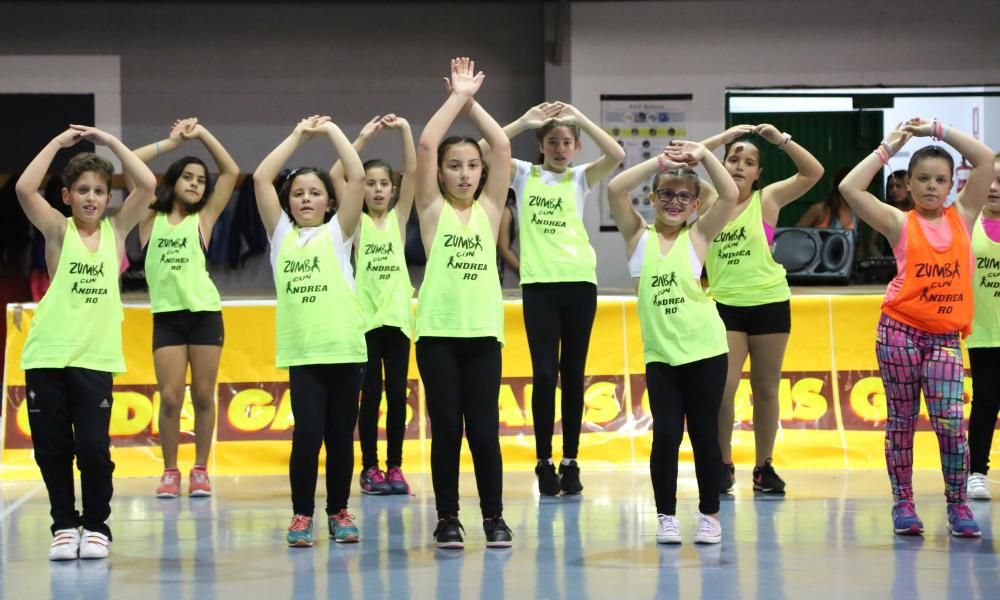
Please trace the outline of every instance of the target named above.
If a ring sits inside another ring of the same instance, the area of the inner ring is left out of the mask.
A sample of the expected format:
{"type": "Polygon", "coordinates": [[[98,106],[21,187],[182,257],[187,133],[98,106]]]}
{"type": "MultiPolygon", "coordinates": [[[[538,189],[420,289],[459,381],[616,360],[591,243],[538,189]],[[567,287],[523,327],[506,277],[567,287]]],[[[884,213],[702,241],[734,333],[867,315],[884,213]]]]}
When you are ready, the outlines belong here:
{"type": "Polygon", "coordinates": [[[379,229],[371,217],[362,213],[355,280],[365,328],[370,331],[390,325],[412,337],[413,285],[406,270],[396,209],[389,211],[382,225],[383,229],[379,229]]]}

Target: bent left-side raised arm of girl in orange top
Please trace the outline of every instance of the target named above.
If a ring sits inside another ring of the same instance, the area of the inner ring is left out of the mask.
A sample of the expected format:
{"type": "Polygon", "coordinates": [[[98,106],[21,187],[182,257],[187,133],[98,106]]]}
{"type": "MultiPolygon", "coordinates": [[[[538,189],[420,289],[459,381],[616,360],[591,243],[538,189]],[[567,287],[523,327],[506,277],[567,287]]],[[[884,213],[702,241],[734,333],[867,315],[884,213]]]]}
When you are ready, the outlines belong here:
{"type": "Polygon", "coordinates": [[[872,177],[882,172],[883,160],[888,161],[889,156],[898,152],[909,139],[910,133],[900,128],[890,132],[879,148],[851,169],[838,186],[858,218],[884,235],[893,247],[899,242],[906,214],[869,193],[868,185],[872,177]]]}

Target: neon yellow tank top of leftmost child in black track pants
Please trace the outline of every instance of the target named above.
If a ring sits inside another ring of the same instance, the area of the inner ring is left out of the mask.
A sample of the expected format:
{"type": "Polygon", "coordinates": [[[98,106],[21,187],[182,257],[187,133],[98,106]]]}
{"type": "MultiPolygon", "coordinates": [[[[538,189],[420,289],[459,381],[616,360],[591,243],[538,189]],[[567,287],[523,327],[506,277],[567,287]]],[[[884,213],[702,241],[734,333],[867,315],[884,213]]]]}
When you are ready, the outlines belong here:
{"type": "Polygon", "coordinates": [[[31,321],[22,369],[125,372],[118,265],[118,240],[110,221],[101,221],[100,247],[91,252],[73,218],[67,219],[59,266],[31,321]]]}

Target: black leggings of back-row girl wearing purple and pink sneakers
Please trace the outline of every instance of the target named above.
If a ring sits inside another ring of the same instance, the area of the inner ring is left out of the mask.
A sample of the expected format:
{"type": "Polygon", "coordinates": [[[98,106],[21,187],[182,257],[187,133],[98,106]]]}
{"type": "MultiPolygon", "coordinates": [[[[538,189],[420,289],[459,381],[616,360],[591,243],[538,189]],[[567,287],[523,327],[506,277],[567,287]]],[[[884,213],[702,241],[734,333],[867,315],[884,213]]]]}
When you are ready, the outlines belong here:
{"type": "Polygon", "coordinates": [[[382,402],[382,365],[385,365],[385,438],[386,464],[403,465],[403,435],[406,428],[406,378],[410,368],[410,338],[388,325],[365,334],[368,342],[368,367],[361,388],[358,413],[358,437],[361,438],[361,464],[364,469],[378,466],[378,414],[382,402]]]}

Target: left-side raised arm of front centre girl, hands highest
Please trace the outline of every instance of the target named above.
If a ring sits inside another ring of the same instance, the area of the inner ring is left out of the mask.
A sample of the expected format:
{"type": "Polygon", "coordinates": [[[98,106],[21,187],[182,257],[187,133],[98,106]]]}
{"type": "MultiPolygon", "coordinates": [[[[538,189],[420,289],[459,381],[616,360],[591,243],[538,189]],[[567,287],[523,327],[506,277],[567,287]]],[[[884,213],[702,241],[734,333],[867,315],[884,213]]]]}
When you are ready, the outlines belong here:
{"type": "MultiPolygon", "coordinates": [[[[421,227],[424,226],[425,215],[429,220],[437,221],[437,212],[441,210],[444,199],[438,189],[437,151],[448,128],[455,117],[465,108],[468,101],[479,90],[485,76],[475,72],[475,62],[465,58],[454,58],[451,61],[451,93],[434,113],[430,121],[420,132],[420,143],[417,145],[417,173],[415,177],[417,214],[420,216],[421,227]]],[[[489,140],[487,140],[489,141],[489,140]]],[[[429,231],[429,230],[428,230],[429,231]]]]}

